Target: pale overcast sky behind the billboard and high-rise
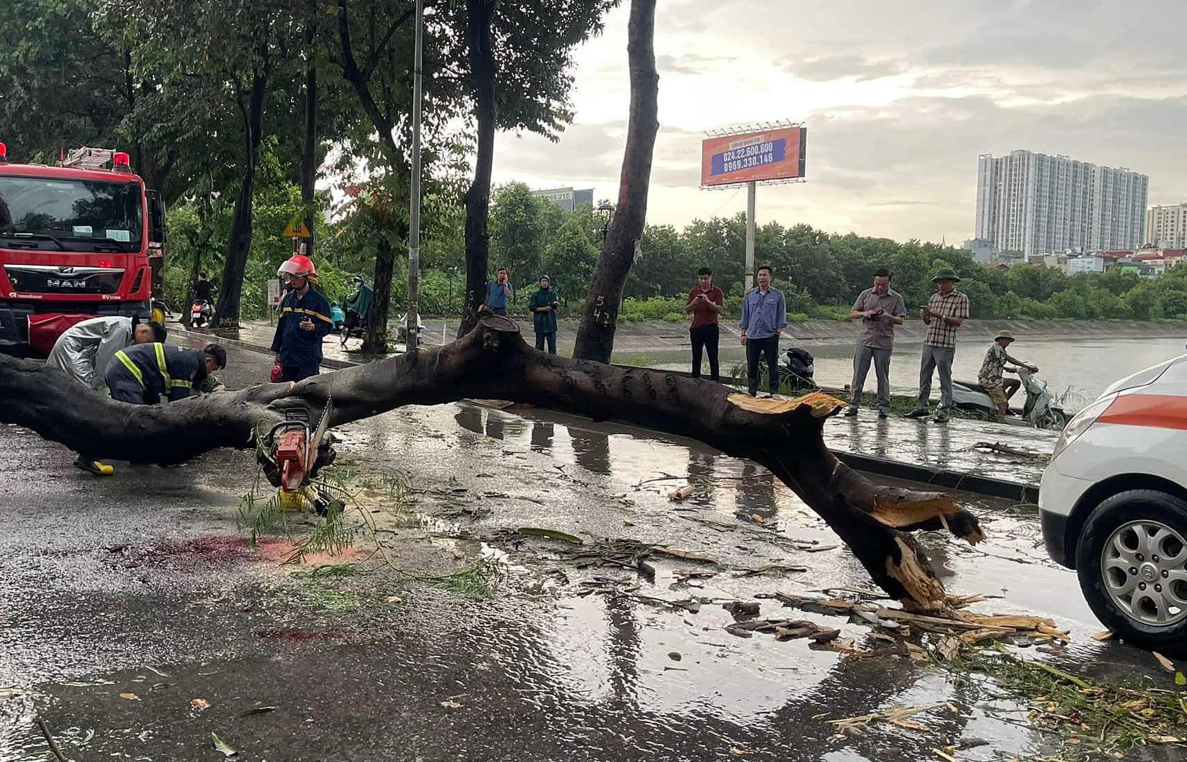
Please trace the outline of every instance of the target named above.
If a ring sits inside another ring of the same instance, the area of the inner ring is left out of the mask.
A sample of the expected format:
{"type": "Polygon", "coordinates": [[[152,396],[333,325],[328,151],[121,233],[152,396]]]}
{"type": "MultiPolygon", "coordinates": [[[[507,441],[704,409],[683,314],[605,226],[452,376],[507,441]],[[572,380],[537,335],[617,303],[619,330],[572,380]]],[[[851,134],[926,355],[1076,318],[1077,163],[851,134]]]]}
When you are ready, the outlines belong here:
{"type": "MultiPolygon", "coordinates": [[[[495,179],[617,196],[629,0],[578,51],[557,144],[502,134],[495,179]]],[[[659,0],[660,134],[648,221],[745,210],[703,191],[706,129],[808,127],[807,183],[758,189],[760,224],[972,236],[977,155],[1062,153],[1187,202],[1187,0],[659,0]]]]}

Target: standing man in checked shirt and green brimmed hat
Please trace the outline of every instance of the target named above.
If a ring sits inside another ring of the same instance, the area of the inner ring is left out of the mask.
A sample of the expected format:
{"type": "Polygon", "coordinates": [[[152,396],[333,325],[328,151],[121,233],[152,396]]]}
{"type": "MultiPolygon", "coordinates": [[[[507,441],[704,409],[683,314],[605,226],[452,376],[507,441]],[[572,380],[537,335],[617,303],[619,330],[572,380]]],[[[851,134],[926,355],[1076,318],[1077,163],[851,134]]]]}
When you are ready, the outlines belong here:
{"type": "Polygon", "coordinates": [[[927,306],[919,311],[927,324],[927,336],[923,338],[923,356],[919,367],[919,399],[915,409],[907,418],[923,418],[929,413],[928,399],[932,395],[932,374],[940,374],[940,409],[935,423],[948,420],[952,407],[952,361],[957,355],[957,329],[969,317],[969,297],[957,291],[960,278],[951,267],[942,267],[932,278],[937,292],[927,306]]]}

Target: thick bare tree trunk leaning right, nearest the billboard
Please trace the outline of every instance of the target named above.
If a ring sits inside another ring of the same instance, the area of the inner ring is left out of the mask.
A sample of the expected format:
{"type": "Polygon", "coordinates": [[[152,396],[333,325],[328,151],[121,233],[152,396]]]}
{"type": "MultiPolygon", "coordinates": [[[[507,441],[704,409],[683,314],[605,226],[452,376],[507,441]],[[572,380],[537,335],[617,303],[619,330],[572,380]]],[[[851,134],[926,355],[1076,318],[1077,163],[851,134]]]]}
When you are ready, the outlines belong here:
{"type": "Polygon", "coordinates": [[[573,357],[610,362],[614,332],[627,273],[635,261],[635,245],[647,222],[647,191],[652,180],[652,154],[659,132],[659,82],[655,70],[655,0],[631,0],[627,27],[630,63],[630,121],[622,179],[614,221],[594,267],[585,312],[577,331],[573,357]]]}

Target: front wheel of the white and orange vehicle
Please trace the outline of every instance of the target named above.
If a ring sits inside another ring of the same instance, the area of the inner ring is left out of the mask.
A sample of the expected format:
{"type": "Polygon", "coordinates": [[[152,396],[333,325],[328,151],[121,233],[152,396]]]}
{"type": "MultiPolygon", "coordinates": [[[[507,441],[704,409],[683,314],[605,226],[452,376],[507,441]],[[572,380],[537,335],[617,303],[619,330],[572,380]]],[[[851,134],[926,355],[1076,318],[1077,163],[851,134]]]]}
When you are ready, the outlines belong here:
{"type": "Polygon", "coordinates": [[[1187,501],[1151,489],[1105,500],[1084,523],[1075,569],[1109,629],[1187,655],[1187,501]]]}

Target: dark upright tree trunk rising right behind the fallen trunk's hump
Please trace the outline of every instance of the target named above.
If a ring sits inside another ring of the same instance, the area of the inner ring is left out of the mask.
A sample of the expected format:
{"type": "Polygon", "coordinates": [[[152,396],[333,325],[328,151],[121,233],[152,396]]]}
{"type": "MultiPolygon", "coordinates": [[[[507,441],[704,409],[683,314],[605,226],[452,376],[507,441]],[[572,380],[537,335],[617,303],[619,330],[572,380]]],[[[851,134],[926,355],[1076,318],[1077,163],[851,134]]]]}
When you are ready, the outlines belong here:
{"type": "Polygon", "coordinates": [[[490,173],[495,160],[495,50],[491,43],[491,0],[466,0],[465,34],[474,76],[474,114],[478,122],[478,153],[474,183],[465,191],[465,296],[457,335],[478,323],[487,300],[490,260],[490,173]]]}

